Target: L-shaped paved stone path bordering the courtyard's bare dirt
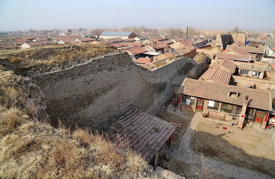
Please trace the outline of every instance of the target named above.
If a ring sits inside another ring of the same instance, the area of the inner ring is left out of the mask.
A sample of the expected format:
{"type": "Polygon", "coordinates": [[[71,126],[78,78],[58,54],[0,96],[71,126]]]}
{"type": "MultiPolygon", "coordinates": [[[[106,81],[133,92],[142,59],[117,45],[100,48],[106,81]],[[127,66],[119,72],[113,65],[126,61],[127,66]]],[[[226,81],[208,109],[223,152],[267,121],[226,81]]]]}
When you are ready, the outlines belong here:
{"type": "MultiPolygon", "coordinates": [[[[190,122],[184,136],[183,140],[180,142],[180,145],[175,152],[175,158],[177,160],[184,161],[190,165],[196,165],[198,168],[202,166],[201,156],[195,154],[195,152],[188,149],[190,142],[191,142],[191,135],[195,132],[196,126],[199,123],[199,118],[193,117],[192,121],[190,122]]],[[[204,158],[205,159],[205,166],[208,167],[209,170],[214,170],[215,172],[224,172],[225,176],[228,176],[228,179],[270,179],[274,178],[269,175],[265,175],[253,170],[249,170],[246,168],[242,168],[239,166],[234,166],[222,161],[214,160],[211,158],[204,158]]]]}

